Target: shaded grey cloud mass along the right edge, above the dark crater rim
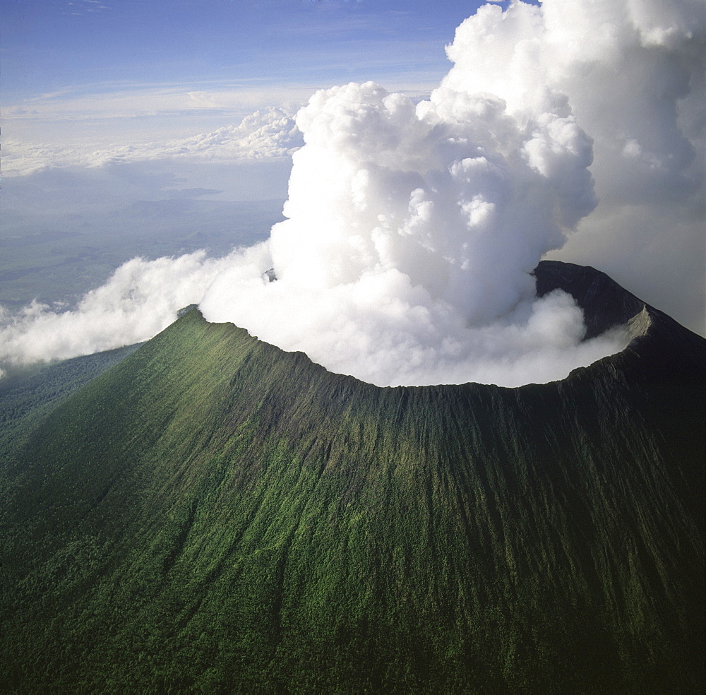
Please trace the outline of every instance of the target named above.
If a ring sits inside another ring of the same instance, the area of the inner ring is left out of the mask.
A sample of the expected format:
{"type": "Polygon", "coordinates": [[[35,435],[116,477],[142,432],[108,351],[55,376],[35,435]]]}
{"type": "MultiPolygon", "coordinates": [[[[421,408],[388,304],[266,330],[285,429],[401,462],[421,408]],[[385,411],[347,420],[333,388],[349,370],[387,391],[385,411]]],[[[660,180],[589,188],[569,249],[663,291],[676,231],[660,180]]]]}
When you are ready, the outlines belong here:
{"type": "Polygon", "coordinates": [[[600,267],[703,334],[706,4],[544,10],[554,52],[569,54],[554,72],[593,138],[600,199],[554,257],[600,267]]]}

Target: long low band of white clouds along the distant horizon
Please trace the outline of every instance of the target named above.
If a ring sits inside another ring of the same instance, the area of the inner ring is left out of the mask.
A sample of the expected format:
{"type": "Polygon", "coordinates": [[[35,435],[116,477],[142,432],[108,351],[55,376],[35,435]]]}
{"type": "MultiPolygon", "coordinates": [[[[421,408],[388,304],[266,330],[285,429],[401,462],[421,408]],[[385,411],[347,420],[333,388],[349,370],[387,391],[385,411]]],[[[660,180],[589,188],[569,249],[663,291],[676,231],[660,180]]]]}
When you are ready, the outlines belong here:
{"type": "Polygon", "coordinates": [[[237,162],[289,157],[303,141],[293,114],[282,108],[256,111],[237,125],[164,142],[91,148],[86,145],[41,145],[6,141],[3,172],[22,176],[49,167],[100,167],[116,162],[164,159],[237,162]]]}

